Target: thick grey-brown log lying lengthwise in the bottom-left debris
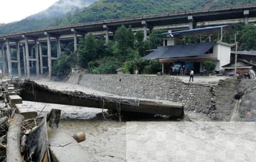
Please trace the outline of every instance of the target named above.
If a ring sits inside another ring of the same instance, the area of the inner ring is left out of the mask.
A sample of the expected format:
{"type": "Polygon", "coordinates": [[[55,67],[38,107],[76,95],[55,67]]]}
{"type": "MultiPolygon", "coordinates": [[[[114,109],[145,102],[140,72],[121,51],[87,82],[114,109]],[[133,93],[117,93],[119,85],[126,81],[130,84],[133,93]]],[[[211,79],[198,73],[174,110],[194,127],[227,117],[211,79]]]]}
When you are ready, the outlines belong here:
{"type": "Polygon", "coordinates": [[[20,114],[14,115],[10,120],[9,130],[7,135],[7,149],[6,159],[7,162],[23,161],[20,149],[21,140],[21,124],[24,120],[24,116],[20,114]]]}

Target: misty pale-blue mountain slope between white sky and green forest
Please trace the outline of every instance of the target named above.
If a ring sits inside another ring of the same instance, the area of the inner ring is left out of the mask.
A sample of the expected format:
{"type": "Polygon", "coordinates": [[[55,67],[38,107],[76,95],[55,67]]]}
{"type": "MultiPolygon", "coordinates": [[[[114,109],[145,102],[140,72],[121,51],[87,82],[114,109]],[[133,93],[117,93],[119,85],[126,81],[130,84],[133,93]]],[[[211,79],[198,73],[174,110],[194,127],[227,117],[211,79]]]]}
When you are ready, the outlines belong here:
{"type": "Polygon", "coordinates": [[[75,11],[76,9],[81,9],[88,7],[98,0],[60,0],[54,5],[50,6],[48,9],[41,11],[35,15],[31,15],[27,18],[50,18],[59,17],[65,15],[67,12],[75,11]]]}

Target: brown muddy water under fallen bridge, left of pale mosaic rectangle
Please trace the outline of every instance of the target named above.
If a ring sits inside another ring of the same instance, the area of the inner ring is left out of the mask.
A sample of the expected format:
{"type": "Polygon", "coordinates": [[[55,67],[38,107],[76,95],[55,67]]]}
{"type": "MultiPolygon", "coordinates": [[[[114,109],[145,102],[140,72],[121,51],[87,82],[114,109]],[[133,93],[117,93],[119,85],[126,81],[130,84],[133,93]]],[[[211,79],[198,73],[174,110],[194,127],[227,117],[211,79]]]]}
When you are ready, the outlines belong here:
{"type": "MultiPolygon", "coordinates": [[[[61,110],[59,128],[70,133],[86,133],[80,145],[99,161],[126,161],[126,123],[104,120],[102,109],[23,101],[22,107],[35,109],[40,116],[51,109],[61,110]]],[[[107,110],[104,110],[106,112],[107,110]]]]}

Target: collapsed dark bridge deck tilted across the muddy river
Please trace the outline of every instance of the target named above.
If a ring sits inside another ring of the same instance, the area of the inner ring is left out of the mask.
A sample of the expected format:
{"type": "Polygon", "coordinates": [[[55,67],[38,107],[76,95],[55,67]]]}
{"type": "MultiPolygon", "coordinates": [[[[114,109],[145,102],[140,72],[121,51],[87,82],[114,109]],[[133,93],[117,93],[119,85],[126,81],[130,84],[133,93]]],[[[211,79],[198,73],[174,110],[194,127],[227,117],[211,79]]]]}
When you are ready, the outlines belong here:
{"type": "Polygon", "coordinates": [[[59,91],[49,89],[47,86],[39,85],[30,80],[25,80],[25,82],[20,85],[20,88],[22,88],[21,97],[24,100],[33,102],[101,108],[117,110],[118,112],[162,114],[171,115],[173,117],[181,117],[183,115],[183,106],[181,104],[164,100],[139,100],[98,96],[79,91],[59,91]]]}

